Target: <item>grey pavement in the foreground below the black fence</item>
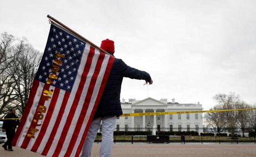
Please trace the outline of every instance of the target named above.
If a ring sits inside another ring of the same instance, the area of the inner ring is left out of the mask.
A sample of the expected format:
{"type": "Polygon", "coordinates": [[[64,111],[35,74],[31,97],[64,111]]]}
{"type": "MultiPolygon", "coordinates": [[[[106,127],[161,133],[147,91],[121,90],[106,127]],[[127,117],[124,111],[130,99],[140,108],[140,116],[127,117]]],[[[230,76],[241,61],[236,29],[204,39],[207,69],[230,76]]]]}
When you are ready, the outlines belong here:
{"type": "MultiPolygon", "coordinates": [[[[1,145],[2,146],[2,145],[1,145]]],[[[94,144],[91,157],[99,157],[101,144],[94,144]]],[[[0,157],[43,157],[14,147],[13,152],[0,149],[0,157]]],[[[111,157],[256,157],[256,144],[170,143],[113,144],[111,157]]]]}

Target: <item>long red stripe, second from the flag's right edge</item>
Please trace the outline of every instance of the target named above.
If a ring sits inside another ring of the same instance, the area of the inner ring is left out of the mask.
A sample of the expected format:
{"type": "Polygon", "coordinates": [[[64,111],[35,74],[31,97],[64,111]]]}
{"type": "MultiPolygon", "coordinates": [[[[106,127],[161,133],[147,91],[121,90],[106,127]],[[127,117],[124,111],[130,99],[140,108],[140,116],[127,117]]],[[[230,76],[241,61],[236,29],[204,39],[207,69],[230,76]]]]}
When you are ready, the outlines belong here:
{"type": "Polygon", "coordinates": [[[66,151],[66,154],[64,155],[64,157],[69,157],[69,155],[71,154],[71,152],[73,150],[72,148],[75,144],[75,141],[78,138],[82,123],[83,123],[85,115],[87,113],[87,109],[88,109],[89,104],[91,102],[91,97],[92,97],[93,91],[95,89],[96,80],[97,80],[98,74],[100,73],[101,64],[104,60],[104,57],[105,57],[105,55],[103,53],[100,53],[100,56],[99,56],[97,64],[96,64],[94,74],[92,75],[92,78],[91,78],[91,82],[90,82],[89,89],[88,89],[88,92],[87,92],[87,95],[86,95],[86,98],[85,98],[85,102],[83,104],[80,116],[79,116],[79,118],[77,120],[77,124],[75,126],[75,130],[73,132],[72,138],[70,140],[69,146],[67,148],[67,151],[66,151]]]}

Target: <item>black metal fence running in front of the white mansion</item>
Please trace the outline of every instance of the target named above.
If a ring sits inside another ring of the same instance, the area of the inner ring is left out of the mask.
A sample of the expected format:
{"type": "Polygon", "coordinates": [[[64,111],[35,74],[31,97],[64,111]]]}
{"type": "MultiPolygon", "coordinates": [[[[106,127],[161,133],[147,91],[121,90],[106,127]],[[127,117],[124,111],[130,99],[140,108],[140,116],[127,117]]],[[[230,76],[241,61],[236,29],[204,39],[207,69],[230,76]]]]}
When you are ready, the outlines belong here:
{"type": "MultiPolygon", "coordinates": [[[[118,130],[116,128],[114,131],[114,143],[230,142],[238,144],[251,142],[256,144],[256,132],[252,128],[244,129],[244,134],[241,128],[222,128],[221,133],[217,133],[216,128],[118,128],[118,130]]],[[[101,142],[101,137],[101,133],[98,133],[95,142],[101,142]]]]}

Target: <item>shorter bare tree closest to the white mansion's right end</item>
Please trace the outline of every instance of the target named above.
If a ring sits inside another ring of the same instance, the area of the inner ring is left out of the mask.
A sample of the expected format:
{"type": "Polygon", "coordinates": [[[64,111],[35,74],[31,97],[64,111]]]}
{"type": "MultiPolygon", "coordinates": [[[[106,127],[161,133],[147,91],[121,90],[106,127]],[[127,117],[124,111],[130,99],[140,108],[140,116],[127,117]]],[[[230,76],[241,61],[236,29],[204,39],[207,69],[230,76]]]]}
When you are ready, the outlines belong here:
{"type": "MultiPolygon", "coordinates": [[[[214,106],[213,108],[210,108],[210,110],[221,110],[219,106],[214,106]]],[[[214,130],[217,131],[217,133],[222,132],[223,128],[226,125],[225,119],[224,119],[224,113],[223,112],[212,112],[212,113],[206,113],[204,115],[204,118],[206,119],[207,124],[214,128],[214,130]]]]}

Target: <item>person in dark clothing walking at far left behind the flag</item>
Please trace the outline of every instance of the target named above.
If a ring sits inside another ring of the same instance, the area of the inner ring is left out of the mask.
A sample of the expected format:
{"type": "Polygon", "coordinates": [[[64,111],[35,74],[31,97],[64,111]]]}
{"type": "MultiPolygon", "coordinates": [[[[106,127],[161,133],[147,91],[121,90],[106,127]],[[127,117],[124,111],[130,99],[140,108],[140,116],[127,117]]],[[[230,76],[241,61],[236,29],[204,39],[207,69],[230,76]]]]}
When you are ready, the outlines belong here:
{"type": "Polygon", "coordinates": [[[9,119],[9,118],[18,118],[15,114],[16,110],[14,108],[11,108],[10,111],[11,112],[8,113],[5,116],[5,120],[4,120],[4,123],[2,125],[2,132],[6,132],[6,136],[7,136],[7,142],[5,142],[5,144],[2,145],[2,147],[5,150],[13,151],[12,146],[11,146],[11,142],[12,142],[12,139],[14,137],[15,129],[16,129],[16,126],[19,123],[19,120],[18,119],[15,119],[15,120],[14,119],[9,119]],[[7,149],[7,146],[8,146],[8,149],[7,149]]]}

